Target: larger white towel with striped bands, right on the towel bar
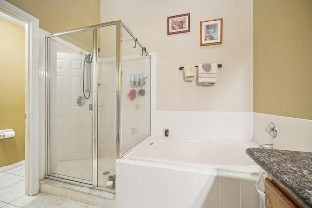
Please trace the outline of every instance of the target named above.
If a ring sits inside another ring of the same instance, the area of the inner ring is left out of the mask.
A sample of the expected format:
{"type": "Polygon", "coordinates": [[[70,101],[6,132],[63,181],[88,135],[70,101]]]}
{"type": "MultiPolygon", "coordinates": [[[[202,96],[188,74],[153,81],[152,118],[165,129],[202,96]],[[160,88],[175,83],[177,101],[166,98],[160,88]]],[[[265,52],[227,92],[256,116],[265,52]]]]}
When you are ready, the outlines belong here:
{"type": "Polygon", "coordinates": [[[217,82],[217,64],[210,64],[210,71],[203,69],[203,64],[198,64],[198,83],[215,84],[217,82]]]}

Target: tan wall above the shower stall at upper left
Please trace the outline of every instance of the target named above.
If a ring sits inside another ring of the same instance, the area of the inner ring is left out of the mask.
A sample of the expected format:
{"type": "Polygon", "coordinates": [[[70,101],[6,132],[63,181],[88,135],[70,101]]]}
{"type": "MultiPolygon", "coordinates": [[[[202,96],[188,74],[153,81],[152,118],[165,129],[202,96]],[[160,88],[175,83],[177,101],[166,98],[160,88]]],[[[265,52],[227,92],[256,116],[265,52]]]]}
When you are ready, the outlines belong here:
{"type": "Polygon", "coordinates": [[[40,20],[50,33],[100,23],[99,0],[6,0],[40,20]]]}

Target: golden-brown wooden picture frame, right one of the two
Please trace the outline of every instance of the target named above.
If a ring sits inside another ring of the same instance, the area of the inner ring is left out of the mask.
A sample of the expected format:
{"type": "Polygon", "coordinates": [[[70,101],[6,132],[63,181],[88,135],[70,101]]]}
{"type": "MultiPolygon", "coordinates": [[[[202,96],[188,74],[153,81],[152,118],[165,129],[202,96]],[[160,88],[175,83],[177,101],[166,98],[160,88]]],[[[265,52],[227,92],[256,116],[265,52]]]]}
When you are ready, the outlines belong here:
{"type": "Polygon", "coordinates": [[[200,46],[222,44],[223,18],[200,21],[200,46]]]}

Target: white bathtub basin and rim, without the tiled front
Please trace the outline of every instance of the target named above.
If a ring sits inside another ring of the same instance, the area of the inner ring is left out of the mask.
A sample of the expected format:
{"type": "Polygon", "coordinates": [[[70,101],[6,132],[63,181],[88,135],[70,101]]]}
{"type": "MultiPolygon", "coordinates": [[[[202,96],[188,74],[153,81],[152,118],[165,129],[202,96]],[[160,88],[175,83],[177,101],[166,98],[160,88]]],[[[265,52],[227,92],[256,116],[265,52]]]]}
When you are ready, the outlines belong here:
{"type": "Polygon", "coordinates": [[[252,140],[151,137],[130,156],[130,160],[257,174],[259,166],[245,153],[246,148],[257,146],[252,140]]]}

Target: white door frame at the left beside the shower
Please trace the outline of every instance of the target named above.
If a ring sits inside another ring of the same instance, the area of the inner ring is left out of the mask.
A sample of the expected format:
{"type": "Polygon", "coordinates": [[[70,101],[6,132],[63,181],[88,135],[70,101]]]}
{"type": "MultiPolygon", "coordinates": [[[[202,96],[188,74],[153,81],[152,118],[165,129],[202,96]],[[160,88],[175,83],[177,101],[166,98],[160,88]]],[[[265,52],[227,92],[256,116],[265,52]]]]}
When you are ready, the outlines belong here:
{"type": "Polygon", "coordinates": [[[39,19],[4,0],[0,11],[25,23],[25,194],[32,196],[39,193],[39,160],[44,157],[39,151],[39,19]]]}

